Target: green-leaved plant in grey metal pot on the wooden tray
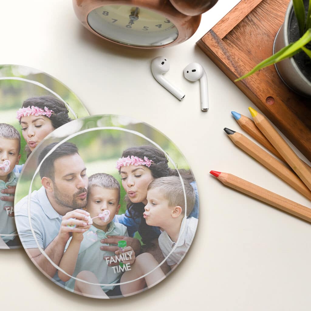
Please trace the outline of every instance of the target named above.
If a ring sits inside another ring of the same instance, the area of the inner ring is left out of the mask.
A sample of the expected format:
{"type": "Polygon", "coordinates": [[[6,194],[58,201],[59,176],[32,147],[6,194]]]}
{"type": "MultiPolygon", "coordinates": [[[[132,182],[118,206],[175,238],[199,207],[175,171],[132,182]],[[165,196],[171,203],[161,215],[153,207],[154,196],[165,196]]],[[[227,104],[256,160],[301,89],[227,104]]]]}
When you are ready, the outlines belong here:
{"type": "Polygon", "coordinates": [[[274,40],[273,55],[235,81],[272,64],[275,64],[285,85],[301,95],[311,97],[311,0],[290,2],[284,23],[274,40]]]}

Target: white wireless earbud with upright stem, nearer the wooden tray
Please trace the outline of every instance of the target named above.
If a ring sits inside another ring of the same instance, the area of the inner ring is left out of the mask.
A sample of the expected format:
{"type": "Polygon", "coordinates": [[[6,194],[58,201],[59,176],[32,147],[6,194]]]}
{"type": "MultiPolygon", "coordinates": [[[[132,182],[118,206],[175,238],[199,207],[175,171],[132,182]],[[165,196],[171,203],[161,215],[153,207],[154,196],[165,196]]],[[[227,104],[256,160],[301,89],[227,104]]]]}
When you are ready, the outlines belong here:
{"type": "Polygon", "coordinates": [[[201,110],[207,111],[208,109],[208,86],[207,76],[203,67],[198,63],[189,64],[184,70],[183,74],[189,81],[197,81],[200,79],[201,89],[201,110]]]}

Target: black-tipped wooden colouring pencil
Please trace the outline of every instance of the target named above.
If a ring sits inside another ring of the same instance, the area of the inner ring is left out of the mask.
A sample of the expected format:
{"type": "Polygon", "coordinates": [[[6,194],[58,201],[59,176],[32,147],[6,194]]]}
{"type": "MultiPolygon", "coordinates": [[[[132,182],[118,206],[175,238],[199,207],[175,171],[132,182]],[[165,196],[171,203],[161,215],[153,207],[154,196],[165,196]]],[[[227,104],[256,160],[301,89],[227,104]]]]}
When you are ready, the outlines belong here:
{"type": "Polygon", "coordinates": [[[267,151],[263,150],[243,134],[232,131],[229,128],[224,128],[224,131],[236,146],[241,148],[248,155],[252,156],[267,169],[270,169],[274,174],[283,179],[291,187],[311,200],[311,191],[291,169],[276,160],[276,158],[271,156],[267,151]]]}

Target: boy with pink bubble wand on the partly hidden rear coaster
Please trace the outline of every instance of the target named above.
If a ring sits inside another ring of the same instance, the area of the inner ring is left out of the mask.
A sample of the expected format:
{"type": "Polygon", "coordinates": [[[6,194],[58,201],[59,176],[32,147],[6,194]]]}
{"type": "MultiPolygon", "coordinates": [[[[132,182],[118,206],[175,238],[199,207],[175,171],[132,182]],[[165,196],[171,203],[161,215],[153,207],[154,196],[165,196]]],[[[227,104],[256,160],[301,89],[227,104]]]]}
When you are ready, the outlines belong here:
{"type": "MultiPolygon", "coordinates": [[[[0,164],[10,161],[7,171],[0,169],[0,190],[9,186],[16,186],[19,174],[13,169],[18,164],[21,155],[21,136],[12,125],[0,123],[0,164]]],[[[8,194],[2,194],[7,196],[8,194]]],[[[8,248],[6,243],[13,240],[16,235],[13,202],[0,201],[0,248],[8,248]]]]}

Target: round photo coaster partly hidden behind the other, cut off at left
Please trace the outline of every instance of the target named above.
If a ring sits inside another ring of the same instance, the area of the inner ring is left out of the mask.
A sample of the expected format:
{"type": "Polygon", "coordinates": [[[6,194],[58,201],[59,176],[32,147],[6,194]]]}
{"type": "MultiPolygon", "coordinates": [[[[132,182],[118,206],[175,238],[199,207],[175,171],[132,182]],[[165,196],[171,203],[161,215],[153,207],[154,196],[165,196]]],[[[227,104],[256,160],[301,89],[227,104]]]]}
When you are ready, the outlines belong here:
{"type": "Polygon", "coordinates": [[[13,201],[27,157],[55,128],[89,113],[63,83],[30,67],[0,65],[0,94],[0,249],[10,249],[21,247],[13,201]]]}

